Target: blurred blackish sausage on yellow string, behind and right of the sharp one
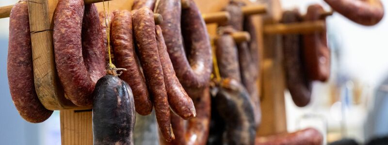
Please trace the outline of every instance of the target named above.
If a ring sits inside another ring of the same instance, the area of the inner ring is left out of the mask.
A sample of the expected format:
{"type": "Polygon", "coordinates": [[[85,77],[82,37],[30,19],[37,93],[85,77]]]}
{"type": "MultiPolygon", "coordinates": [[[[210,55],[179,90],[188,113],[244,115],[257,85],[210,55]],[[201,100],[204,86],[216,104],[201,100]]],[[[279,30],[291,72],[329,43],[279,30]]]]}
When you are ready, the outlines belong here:
{"type": "Polygon", "coordinates": [[[253,145],[256,122],[248,92],[242,84],[231,79],[223,80],[219,89],[215,100],[218,114],[226,124],[223,145],[253,145]]]}

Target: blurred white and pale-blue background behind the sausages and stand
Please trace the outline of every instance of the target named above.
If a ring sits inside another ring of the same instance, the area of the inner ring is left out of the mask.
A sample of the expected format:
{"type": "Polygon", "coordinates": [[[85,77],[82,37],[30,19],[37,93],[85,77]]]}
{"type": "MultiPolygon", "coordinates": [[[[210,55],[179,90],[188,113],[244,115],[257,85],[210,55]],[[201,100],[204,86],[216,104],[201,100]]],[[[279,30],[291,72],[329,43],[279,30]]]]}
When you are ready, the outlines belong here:
{"type": "MultiPolygon", "coordinates": [[[[0,6],[17,0],[0,0],[0,6]]],[[[388,6],[388,0],[382,0],[388,6]]],[[[285,10],[323,0],[281,0],[285,10]]],[[[329,10],[329,9],[327,9],[329,10]]],[[[388,135],[388,9],[383,20],[365,27],[335,13],[327,18],[332,52],[332,75],[327,83],[315,83],[312,102],[294,105],[285,91],[288,131],[313,126],[327,132],[328,142],[353,138],[359,143],[388,135]]],[[[0,140],[3,145],[60,145],[59,112],[40,124],[24,121],[9,93],[6,62],[9,19],[0,19],[0,140]]],[[[325,133],[324,133],[325,134],[325,133]]]]}

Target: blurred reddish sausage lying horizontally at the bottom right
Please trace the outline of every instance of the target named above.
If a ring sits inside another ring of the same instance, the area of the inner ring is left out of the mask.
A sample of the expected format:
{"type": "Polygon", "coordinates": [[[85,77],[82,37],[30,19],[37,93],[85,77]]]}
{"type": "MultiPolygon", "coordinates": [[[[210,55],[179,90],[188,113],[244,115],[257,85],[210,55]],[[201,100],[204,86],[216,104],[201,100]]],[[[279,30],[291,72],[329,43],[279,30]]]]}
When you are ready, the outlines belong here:
{"type": "Polygon", "coordinates": [[[258,137],[255,145],[322,145],[322,134],[312,128],[273,136],[258,137]]]}

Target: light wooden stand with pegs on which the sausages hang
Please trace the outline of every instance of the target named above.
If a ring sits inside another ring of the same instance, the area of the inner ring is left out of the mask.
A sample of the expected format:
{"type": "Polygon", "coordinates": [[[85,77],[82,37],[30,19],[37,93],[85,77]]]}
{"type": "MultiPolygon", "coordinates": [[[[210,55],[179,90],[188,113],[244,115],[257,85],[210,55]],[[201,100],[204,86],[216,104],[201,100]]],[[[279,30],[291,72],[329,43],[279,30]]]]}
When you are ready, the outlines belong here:
{"type": "MultiPolygon", "coordinates": [[[[85,0],[85,3],[95,3],[102,0],[85,0]]],[[[107,1],[107,0],[104,0],[107,1]]],[[[224,20],[227,14],[222,9],[228,0],[194,0],[200,11],[206,14],[219,12],[224,20]]],[[[249,0],[242,0],[250,3],[249,0]]],[[[262,110],[262,122],[258,135],[268,135],[287,131],[284,103],[284,72],[282,50],[279,33],[300,33],[322,30],[324,22],[314,22],[302,25],[277,24],[282,14],[278,0],[264,0],[267,9],[258,10],[246,8],[246,13],[258,14],[267,11],[263,16],[255,15],[257,36],[259,42],[260,66],[258,73],[259,90],[262,110]],[[261,12],[262,11],[262,12],[261,12]]],[[[55,70],[55,60],[52,40],[52,16],[58,0],[29,0],[29,17],[32,41],[32,57],[35,88],[42,104],[50,110],[61,110],[62,145],[92,145],[92,112],[91,108],[79,108],[65,98],[55,70]]],[[[113,0],[109,9],[130,10],[132,0],[113,0]]],[[[107,6],[107,5],[105,5],[107,6]]],[[[248,5],[249,6],[249,5],[248,5]]],[[[97,3],[102,11],[102,3],[97,3]]],[[[263,7],[263,5],[259,5],[263,7]]],[[[0,8],[0,18],[9,16],[12,6],[0,8]]],[[[245,12],[244,12],[245,13],[245,12]]],[[[208,15],[209,16],[209,15],[208,15]]],[[[213,14],[214,16],[214,14],[213,14]]],[[[209,18],[209,17],[208,17],[209,18]]],[[[214,17],[209,22],[215,22],[214,17]]],[[[216,35],[217,24],[209,24],[210,36],[216,35]]],[[[243,36],[244,34],[242,34],[243,36]]],[[[238,37],[238,36],[236,36],[238,37]]],[[[243,36],[245,37],[245,36],[243,36]]]]}

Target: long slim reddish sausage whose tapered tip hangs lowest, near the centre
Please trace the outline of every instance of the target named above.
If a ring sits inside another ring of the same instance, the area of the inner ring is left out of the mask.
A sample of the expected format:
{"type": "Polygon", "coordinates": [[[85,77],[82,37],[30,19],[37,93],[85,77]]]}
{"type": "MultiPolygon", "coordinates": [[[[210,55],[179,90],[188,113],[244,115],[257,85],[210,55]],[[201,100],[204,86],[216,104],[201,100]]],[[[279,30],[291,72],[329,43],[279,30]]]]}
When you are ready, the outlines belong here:
{"type": "Polygon", "coordinates": [[[132,20],[140,61],[147,86],[153,96],[159,128],[164,139],[170,142],[175,137],[171,128],[170,108],[156,43],[154,14],[149,8],[143,7],[133,14],[132,20]]]}

